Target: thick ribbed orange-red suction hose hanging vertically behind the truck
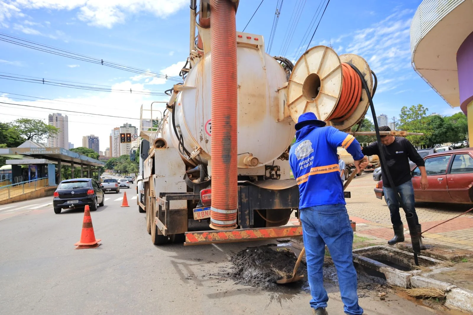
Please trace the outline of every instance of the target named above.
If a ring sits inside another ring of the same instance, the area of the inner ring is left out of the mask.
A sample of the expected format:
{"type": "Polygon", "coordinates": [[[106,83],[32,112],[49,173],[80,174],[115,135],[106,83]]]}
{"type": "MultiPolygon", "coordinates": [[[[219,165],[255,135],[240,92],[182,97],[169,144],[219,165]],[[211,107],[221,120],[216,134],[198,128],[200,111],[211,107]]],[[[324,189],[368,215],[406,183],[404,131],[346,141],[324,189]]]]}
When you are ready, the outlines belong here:
{"type": "Polygon", "coordinates": [[[212,53],[212,205],[210,228],[236,228],[237,69],[235,6],[210,0],[212,53]]]}

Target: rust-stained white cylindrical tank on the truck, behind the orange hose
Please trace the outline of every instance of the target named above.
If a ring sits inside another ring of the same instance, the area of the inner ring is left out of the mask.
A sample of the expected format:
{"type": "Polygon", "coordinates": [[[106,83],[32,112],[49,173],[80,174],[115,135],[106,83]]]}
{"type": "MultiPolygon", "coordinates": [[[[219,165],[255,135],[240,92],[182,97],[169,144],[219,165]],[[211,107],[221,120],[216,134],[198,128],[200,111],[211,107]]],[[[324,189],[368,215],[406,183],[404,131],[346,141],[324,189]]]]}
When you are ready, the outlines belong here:
{"type": "MultiPolygon", "coordinates": [[[[175,125],[182,132],[184,147],[189,152],[202,148],[200,158],[205,164],[210,161],[212,150],[210,62],[211,52],[193,66],[175,103],[175,125]]],[[[286,72],[270,55],[249,45],[237,45],[237,62],[238,167],[263,166],[280,157],[295,135],[291,119],[278,122],[277,91],[287,82],[286,72]],[[257,165],[244,163],[250,154],[258,159],[257,165]]],[[[171,114],[167,123],[162,136],[169,146],[177,148],[171,114]]]]}

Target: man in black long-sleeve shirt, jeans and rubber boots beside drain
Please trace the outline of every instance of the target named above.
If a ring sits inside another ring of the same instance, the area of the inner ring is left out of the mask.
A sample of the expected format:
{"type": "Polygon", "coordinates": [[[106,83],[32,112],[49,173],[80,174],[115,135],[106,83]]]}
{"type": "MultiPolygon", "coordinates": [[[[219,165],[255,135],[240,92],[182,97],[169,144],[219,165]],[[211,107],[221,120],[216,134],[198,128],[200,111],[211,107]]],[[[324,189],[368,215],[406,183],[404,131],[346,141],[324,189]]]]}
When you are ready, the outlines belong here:
{"type": "MultiPolygon", "coordinates": [[[[388,126],[379,127],[379,131],[391,131],[388,126]]],[[[391,212],[391,223],[393,224],[394,237],[388,241],[388,244],[393,245],[398,242],[404,241],[404,226],[401,221],[401,215],[399,214],[399,201],[396,198],[394,189],[391,187],[387,176],[384,174],[386,167],[391,174],[394,185],[396,186],[397,192],[401,196],[404,207],[407,212],[412,212],[414,215],[417,230],[421,231],[419,219],[415,212],[414,206],[414,189],[411,181],[411,167],[409,166],[409,159],[414,162],[420,170],[420,188],[426,189],[429,187],[427,180],[427,174],[425,172],[425,163],[416,149],[412,146],[409,140],[402,137],[394,137],[391,135],[381,136],[382,149],[385,153],[386,164],[382,165],[382,176],[383,176],[383,192],[385,195],[385,201],[391,212]]],[[[377,154],[379,156],[378,143],[373,142],[368,147],[362,148],[362,152],[366,156],[377,154]]],[[[425,249],[422,244],[421,238],[419,238],[421,249],[425,249]]]]}

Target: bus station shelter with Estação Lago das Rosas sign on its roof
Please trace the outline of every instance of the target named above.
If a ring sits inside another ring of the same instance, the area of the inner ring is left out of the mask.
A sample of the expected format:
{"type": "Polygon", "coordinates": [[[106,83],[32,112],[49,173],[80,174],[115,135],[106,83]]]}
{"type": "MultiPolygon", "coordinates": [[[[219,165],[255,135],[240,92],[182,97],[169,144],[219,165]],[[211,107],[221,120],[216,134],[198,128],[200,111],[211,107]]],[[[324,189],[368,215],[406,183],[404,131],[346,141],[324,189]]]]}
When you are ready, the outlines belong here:
{"type": "Polygon", "coordinates": [[[6,163],[11,165],[12,184],[47,177],[49,186],[55,186],[61,181],[62,165],[71,167],[72,178],[74,168],[80,167],[80,177],[92,178],[92,172],[97,171],[96,179],[100,180],[100,166],[105,166],[103,161],[63,148],[0,148],[0,156],[11,158],[6,163]]]}

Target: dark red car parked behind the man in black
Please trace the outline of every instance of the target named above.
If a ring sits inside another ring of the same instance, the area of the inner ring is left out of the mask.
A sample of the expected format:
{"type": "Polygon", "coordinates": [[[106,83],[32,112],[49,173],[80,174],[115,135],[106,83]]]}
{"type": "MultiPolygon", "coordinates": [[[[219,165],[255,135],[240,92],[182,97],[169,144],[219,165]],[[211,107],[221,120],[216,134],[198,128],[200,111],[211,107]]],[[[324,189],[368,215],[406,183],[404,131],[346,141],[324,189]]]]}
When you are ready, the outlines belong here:
{"type": "MultiPolygon", "coordinates": [[[[424,157],[429,188],[420,189],[420,170],[411,169],[415,201],[472,203],[473,148],[438,152],[424,157]]],[[[375,188],[376,197],[383,198],[383,181],[375,188]]]]}

